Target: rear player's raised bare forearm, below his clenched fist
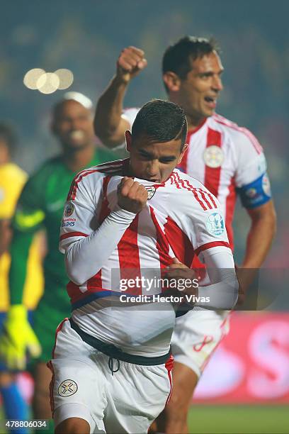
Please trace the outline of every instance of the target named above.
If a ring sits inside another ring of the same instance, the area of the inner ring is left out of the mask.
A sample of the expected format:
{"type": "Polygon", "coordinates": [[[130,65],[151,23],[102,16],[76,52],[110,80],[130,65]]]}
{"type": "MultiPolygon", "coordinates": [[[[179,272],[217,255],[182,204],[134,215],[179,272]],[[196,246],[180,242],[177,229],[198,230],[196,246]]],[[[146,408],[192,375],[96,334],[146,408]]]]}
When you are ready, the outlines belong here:
{"type": "Polygon", "coordinates": [[[113,77],[96,105],[94,131],[103,143],[110,148],[120,145],[124,140],[125,130],[119,132],[118,129],[120,127],[123,99],[127,87],[128,82],[123,82],[117,76],[113,77]],[[118,139],[115,135],[120,135],[121,137],[118,139]]]}

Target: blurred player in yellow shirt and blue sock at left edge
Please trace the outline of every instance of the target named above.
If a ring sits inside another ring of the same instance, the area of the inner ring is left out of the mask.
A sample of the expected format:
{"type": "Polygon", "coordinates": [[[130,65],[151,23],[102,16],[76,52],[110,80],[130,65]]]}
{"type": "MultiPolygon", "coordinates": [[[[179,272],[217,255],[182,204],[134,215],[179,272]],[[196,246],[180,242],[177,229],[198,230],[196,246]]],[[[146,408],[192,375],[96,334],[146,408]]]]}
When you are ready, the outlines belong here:
{"type": "MultiPolygon", "coordinates": [[[[2,323],[8,308],[8,270],[11,241],[10,221],[13,216],[21,189],[27,174],[13,162],[17,145],[16,133],[7,123],[0,123],[0,321],[2,323]]],[[[24,284],[23,302],[28,309],[35,308],[42,292],[41,245],[42,234],[33,239],[28,257],[28,272],[24,284]]],[[[1,325],[0,325],[1,328],[1,325]]],[[[5,363],[0,361],[0,395],[7,419],[23,420],[28,417],[28,408],[16,377],[9,372],[5,363]]],[[[27,433],[26,428],[17,428],[15,434],[27,433]]]]}

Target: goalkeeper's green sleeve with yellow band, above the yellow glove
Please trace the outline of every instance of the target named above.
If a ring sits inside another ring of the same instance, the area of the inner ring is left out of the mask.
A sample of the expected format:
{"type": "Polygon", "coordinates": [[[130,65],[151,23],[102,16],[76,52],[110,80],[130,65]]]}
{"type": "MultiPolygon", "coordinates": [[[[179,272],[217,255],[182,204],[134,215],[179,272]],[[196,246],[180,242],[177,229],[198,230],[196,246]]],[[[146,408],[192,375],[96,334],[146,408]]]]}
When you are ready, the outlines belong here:
{"type": "MultiPolygon", "coordinates": [[[[40,179],[36,174],[24,187],[13,216],[13,238],[11,241],[11,267],[9,272],[10,303],[21,304],[26,281],[28,252],[34,233],[45,218],[44,191],[40,190],[40,179]]],[[[43,184],[42,184],[43,188],[43,184]]]]}

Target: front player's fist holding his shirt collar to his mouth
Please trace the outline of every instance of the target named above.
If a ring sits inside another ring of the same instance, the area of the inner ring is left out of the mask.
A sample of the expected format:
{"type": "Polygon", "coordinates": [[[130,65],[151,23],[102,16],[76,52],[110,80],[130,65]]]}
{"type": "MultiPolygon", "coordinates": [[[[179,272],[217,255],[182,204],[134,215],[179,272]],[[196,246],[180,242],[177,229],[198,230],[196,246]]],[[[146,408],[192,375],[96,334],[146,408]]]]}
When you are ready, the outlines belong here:
{"type": "Polygon", "coordinates": [[[147,204],[147,190],[132,178],[123,177],[118,184],[118,205],[120,208],[139,213],[147,204]]]}

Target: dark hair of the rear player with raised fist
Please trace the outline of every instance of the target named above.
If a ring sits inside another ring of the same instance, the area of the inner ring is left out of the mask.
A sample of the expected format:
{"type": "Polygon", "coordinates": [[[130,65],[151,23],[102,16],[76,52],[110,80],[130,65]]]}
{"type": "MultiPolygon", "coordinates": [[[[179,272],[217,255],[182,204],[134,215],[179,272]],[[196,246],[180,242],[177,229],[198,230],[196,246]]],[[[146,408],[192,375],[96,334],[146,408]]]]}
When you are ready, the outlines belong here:
{"type": "Polygon", "coordinates": [[[171,71],[179,75],[181,79],[185,79],[192,69],[191,62],[213,51],[220,53],[220,48],[215,39],[184,36],[166,48],[162,59],[162,72],[164,74],[171,71]]]}

